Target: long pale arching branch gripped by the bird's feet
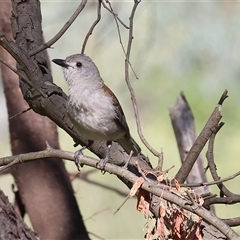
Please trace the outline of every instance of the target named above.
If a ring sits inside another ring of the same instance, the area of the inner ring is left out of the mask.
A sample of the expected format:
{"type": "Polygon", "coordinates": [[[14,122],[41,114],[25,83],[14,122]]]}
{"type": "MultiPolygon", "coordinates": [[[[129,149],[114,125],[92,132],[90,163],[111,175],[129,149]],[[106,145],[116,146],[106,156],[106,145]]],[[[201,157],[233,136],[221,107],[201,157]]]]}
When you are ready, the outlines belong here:
{"type": "MultiPolygon", "coordinates": [[[[48,146],[47,149],[44,151],[1,158],[0,166],[11,164],[12,161],[14,161],[14,163],[16,164],[48,157],[59,157],[74,161],[74,153],[58,149],[52,149],[51,147],[48,146]]],[[[88,165],[94,168],[96,168],[98,162],[98,160],[86,157],[84,155],[80,157],[80,161],[83,165],[88,165]]],[[[138,179],[138,177],[135,174],[131,173],[127,169],[118,167],[110,163],[106,164],[105,171],[111,174],[115,174],[118,177],[125,178],[131,183],[135,183],[138,179]]],[[[230,229],[228,225],[225,224],[221,219],[217,218],[215,215],[210,213],[208,210],[206,210],[204,207],[197,204],[196,202],[194,202],[193,204],[191,200],[187,199],[186,197],[183,197],[184,195],[181,196],[180,192],[176,192],[173,189],[172,191],[167,191],[166,185],[156,184],[156,182],[151,181],[144,181],[142,189],[151,192],[156,196],[159,196],[173,204],[176,204],[180,208],[186,209],[192,213],[197,214],[198,216],[202,217],[205,221],[215,226],[220,232],[222,232],[226,237],[228,237],[228,239],[234,240],[240,239],[240,237],[232,229],[230,229]]]]}

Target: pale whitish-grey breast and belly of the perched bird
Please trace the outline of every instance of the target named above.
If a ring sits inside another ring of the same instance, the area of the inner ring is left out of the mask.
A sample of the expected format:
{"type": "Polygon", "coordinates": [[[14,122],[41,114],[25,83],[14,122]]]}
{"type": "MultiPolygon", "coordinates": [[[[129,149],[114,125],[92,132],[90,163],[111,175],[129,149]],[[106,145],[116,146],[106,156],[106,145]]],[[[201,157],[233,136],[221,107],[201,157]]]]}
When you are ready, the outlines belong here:
{"type": "Polygon", "coordinates": [[[116,121],[111,98],[101,92],[82,92],[78,97],[69,96],[67,112],[76,129],[87,139],[110,141],[122,137],[125,132],[116,121]]]}

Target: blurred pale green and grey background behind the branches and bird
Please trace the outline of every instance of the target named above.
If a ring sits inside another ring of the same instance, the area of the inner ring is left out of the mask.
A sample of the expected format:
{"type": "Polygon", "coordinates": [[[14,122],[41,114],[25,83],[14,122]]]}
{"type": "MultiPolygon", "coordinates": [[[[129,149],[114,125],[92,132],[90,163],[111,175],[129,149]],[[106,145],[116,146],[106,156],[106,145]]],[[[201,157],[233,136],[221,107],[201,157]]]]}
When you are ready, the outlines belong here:
{"type": "MultiPolygon", "coordinates": [[[[79,1],[41,1],[43,33],[51,39],[68,20],[79,1]]],[[[128,25],[133,1],[114,1],[112,6],[128,25]]],[[[164,152],[164,168],[175,165],[172,178],[180,166],[177,144],[171,127],[168,107],[175,103],[180,91],[184,91],[195,116],[199,133],[225,89],[229,98],[223,106],[223,121],[215,145],[215,158],[219,175],[224,178],[239,171],[240,138],[240,3],[239,2],[165,2],[143,1],[134,21],[134,40],[131,63],[139,79],[131,73],[143,133],[151,145],[164,152]]],[[[86,8],[62,38],[48,50],[50,59],[65,58],[79,53],[92,22],[96,19],[97,2],[88,2],[86,8]]],[[[120,26],[126,46],[128,32],[120,26]]],[[[124,109],[132,136],[143,152],[154,158],[140,143],[130,94],[124,81],[124,54],[119,43],[113,16],[102,9],[101,22],[95,28],[85,53],[97,64],[105,83],[117,95],[124,109]]],[[[54,82],[67,92],[61,69],[52,65],[54,82]]],[[[0,86],[0,152],[11,155],[8,119],[2,85],[0,86]]],[[[23,109],[24,110],[24,109],[23,109]]],[[[61,148],[75,151],[72,139],[59,130],[61,148]]],[[[203,151],[205,156],[206,149],[203,151]]],[[[69,171],[76,172],[72,163],[66,163],[69,171]]],[[[82,173],[90,171],[84,167],[82,173]]],[[[113,212],[123,201],[116,191],[127,195],[127,188],[114,176],[94,171],[89,182],[74,181],[76,197],[88,230],[105,239],[142,239],[146,220],[135,210],[136,199],[129,200],[117,213],[113,212]],[[97,182],[102,186],[91,182],[97,182]]],[[[10,199],[10,176],[1,177],[2,188],[10,199]]],[[[240,193],[239,178],[226,186],[240,193]]],[[[218,194],[216,188],[212,191],[218,194]]],[[[240,215],[239,205],[217,206],[222,218],[240,215]]],[[[240,228],[234,228],[240,233],[240,228]]],[[[91,238],[97,238],[91,235],[91,238]]]]}

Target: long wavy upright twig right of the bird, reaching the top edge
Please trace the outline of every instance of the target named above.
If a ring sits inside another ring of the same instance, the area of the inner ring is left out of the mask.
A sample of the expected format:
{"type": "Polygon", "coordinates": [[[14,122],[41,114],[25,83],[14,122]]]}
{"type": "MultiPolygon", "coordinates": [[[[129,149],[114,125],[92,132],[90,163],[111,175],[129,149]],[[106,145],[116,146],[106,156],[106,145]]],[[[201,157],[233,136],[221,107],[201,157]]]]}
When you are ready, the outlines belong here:
{"type": "Polygon", "coordinates": [[[132,47],[132,40],[133,40],[133,18],[134,18],[134,14],[135,14],[135,11],[136,11],[137,6],[138,6],[139,3],[140,3],[140,1],[137,1],[137,0],[134,1],[134,6],[133,6],[133,9],[132,9],[132,13],[131,13],[131,16],[130,16],[130,18],[129,18],[130,30],[129,30],[128,46],[127,46],[127,53],[126,53],[126,60],[125,60],[125,81],[126,81],[126,83],[127,83],[128,89],[129,89],[130,94],[131,94],[131,99],[132,99],[134,114],[135,114],[136,123],[137,123],[138,135],[139,135],[141,141],[144,143],[144,145],[148,148],[148,150],[149,150],[154,156],[157,156],[158,158],[160,158],[161,153],[157,152],[157,151],[147,142],[147,140],[146,140],[145,137],[143,136],[142,129],[141,129],[141,124],[140,124],[140,117],[139,117],[139,112],[138,112],[136,97],[135,97],[134,90],[133,90],[133,88],[132,88],[132,86],[131,86],[130,80],[129,80],[129,59],[130,59],[130,53],[131,53],[131,47],[132,47]]]}

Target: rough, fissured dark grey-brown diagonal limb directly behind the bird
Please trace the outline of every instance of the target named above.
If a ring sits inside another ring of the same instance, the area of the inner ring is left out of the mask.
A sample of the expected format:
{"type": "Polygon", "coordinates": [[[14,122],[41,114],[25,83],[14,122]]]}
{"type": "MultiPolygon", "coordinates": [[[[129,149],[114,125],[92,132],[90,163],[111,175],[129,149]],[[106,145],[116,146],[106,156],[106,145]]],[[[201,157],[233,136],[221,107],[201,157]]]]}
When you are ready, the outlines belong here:
{"type": "MultiPolygon", "coordinates": [[[[0,44],[18,61],[18,71],[24,76],[21,77],[20,81],[24,98],[35,112],[48,116],[69,133],[77,143],[85,145],[86,139],[76,132],[66,114],[66,94],[52,83],[46,53],[41,52],[36,56],[29,56],[30,51],[43,43],[39,1],[14,0],[12,27],[17,44],[11,42],[1,32],[0,44]],[[30,84],[26,83],[26,80],[30,84]]],[[[52,146],[55,147],[56,145],[53,144],[52,146]]],[[[26,150],[28,149],[26,148],[26,150]]],[[[96,155],[103,157],[106,151],[105,143],[95,143],[91,150],[96,155]]],[[[111,150],[110,158],[112,163],[123,165],[128,159],[128,155],[117,143],[113,144],[111,150]]],[[[140,155],[130,160],[128,169],[132,172],[138,173],[135,165],[136,160],[138,160],[141,169],[148,170],[151,168],[148,159],[140,155]]],[[[43,162],[41,163],[43,164],[43,162]]],[[[154,213],[158,216],[159,204],[155,204],[155,207],[156,211],[154,213]]]]}

